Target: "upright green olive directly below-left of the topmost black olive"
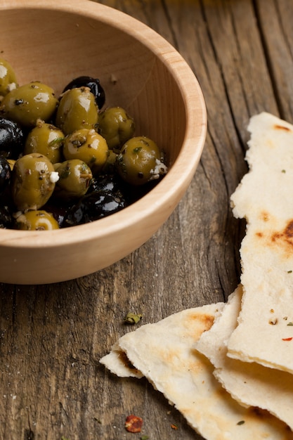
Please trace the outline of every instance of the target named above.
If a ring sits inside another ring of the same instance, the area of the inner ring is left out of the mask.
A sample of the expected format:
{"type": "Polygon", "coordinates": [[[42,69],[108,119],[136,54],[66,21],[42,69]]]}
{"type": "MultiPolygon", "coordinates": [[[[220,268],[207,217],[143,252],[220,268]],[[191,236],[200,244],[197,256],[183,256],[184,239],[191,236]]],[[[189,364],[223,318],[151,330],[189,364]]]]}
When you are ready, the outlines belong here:
{"type": "Polygon", "coordinates": [[[98,105],[89,87],[77,87],[63,93],[55,123],[65,135],[75,130],[96,127],[98,105]]]}

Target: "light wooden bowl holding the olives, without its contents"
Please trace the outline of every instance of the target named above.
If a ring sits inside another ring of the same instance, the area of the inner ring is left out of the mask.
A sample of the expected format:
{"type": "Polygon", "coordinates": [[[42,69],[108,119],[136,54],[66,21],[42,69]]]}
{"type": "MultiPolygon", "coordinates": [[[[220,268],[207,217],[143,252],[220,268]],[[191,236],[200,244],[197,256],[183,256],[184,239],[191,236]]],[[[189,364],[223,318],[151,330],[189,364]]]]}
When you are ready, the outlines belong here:
{"type": "Polygon", "coordinates": [[[129,15],[89,0],[4,0],[1,57],[19,84],[60,93],[79,75],[100,79],[106,105],[121,105],[167,153],[169,172],[141,200],[105,219],[58,231],[0,231],[0,281],[45,284],[110,266],[143,245],[174,211],[200,160],[207,119],[183,58],[129,15]]]}

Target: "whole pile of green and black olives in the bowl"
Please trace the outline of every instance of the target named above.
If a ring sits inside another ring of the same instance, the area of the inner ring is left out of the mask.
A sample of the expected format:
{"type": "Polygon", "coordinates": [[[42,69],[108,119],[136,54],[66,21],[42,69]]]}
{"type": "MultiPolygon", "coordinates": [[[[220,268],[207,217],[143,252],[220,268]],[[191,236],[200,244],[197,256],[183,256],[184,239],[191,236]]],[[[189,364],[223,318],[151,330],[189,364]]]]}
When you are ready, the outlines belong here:
{"type": "Polygon", "coordinates": [[[164,155],[99,79],[77,77],[56,98],[18,85],[0,58],[0,228],[51,230],[113,214],[167,173],[164,155]]]}

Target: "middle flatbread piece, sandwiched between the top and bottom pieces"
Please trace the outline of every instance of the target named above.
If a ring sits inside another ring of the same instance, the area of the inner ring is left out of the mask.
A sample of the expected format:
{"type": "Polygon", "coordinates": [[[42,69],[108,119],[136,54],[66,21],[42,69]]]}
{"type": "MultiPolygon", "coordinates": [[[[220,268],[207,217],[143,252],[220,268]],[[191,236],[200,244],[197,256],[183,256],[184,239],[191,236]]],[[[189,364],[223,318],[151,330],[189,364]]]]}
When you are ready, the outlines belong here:
{"type": "Polygon", "coordinates": [[[237,326],[242,286],[230,295],[221,316],[195,343],[195,348],[214,365],[214,376],[240,404],[258,406],[293,429],[293,375],[227,357],[227,341],[237,326]]]}

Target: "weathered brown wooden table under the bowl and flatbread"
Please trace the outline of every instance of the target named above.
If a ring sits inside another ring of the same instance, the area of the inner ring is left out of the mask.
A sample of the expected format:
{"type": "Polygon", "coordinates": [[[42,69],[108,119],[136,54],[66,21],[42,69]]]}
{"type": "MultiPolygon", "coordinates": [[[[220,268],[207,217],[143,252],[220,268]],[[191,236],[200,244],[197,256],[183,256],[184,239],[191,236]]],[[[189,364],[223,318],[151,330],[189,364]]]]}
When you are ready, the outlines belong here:
{"type": "Polygon", "coordinates": [[[133,330],[127,312],[153,323],[234,290],[245,225],[229,198],[247,170],[249,117],[266,110],[293,122],[292,0],[100,3],[183,55],[206,99],[207,142],[174,214],[129,257],[66,283],[0,285],[1,440],[200,439],[146,380],[121,380],[99,359],[133,330]],[[131,413],[142,434],[124,429],[131,413]]]}

